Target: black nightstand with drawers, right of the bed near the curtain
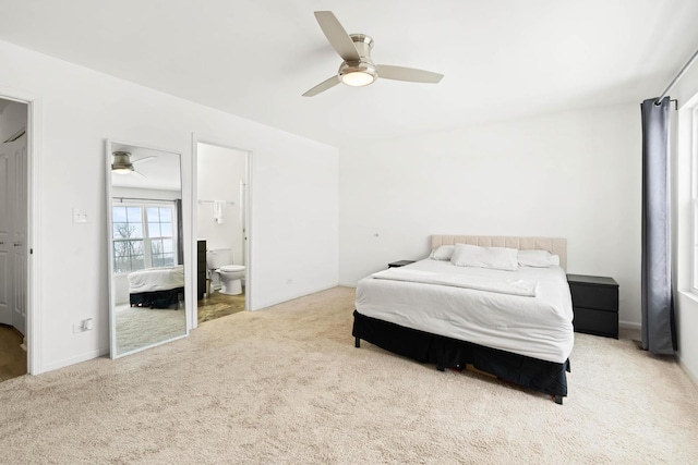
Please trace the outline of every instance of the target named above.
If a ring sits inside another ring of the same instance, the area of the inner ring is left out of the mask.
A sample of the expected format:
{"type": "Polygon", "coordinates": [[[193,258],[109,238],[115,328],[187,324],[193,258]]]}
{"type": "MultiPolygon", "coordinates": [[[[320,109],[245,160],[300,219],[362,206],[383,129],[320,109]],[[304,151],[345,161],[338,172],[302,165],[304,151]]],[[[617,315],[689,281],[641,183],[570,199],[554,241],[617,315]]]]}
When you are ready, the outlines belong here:
{"type": "Polygon", "coordinates": [[[567,274],[575,331],[618,339],[618,283],[613,278],[567,274]]]}

